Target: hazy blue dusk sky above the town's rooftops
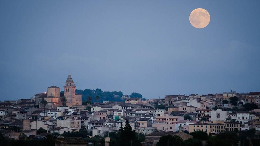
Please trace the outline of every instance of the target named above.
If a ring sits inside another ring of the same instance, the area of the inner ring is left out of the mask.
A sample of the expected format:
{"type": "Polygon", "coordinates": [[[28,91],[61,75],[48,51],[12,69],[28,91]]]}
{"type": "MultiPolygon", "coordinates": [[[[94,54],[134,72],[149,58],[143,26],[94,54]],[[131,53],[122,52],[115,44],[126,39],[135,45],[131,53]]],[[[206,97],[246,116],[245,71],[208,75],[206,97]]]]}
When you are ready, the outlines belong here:
{"type": "Polygon", "coordinates": [[[63,86],[143,97],[260,91],[260,1],[0,1],[0,100],[63,86]],[[196,8],[207,27],[189,22],[196,8]]]}

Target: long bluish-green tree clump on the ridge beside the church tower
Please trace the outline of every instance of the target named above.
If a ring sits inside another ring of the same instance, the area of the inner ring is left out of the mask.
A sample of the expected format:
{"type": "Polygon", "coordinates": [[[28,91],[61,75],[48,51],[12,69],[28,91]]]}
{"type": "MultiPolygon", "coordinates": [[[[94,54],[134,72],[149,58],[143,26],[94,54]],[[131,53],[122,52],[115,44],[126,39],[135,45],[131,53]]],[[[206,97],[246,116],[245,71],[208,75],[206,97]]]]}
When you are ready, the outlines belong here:
{"type": "MultiPolygon", "coordinates": [[[[99,96],[98,101],[122,101],[121,97],[123,96],[123,92],[119,91],[105,91],[103,92],[101,89],[91,90],[91,89],[85,89],[85,90],[75,90],[75,93],[82,94],[82,101],[85,101],[88,99],[88,97],[91,96],[90,102],[93,101],[92,97],[99,96]]],[[[97,99],[95,99],[97,101],[97,99]]]]}

